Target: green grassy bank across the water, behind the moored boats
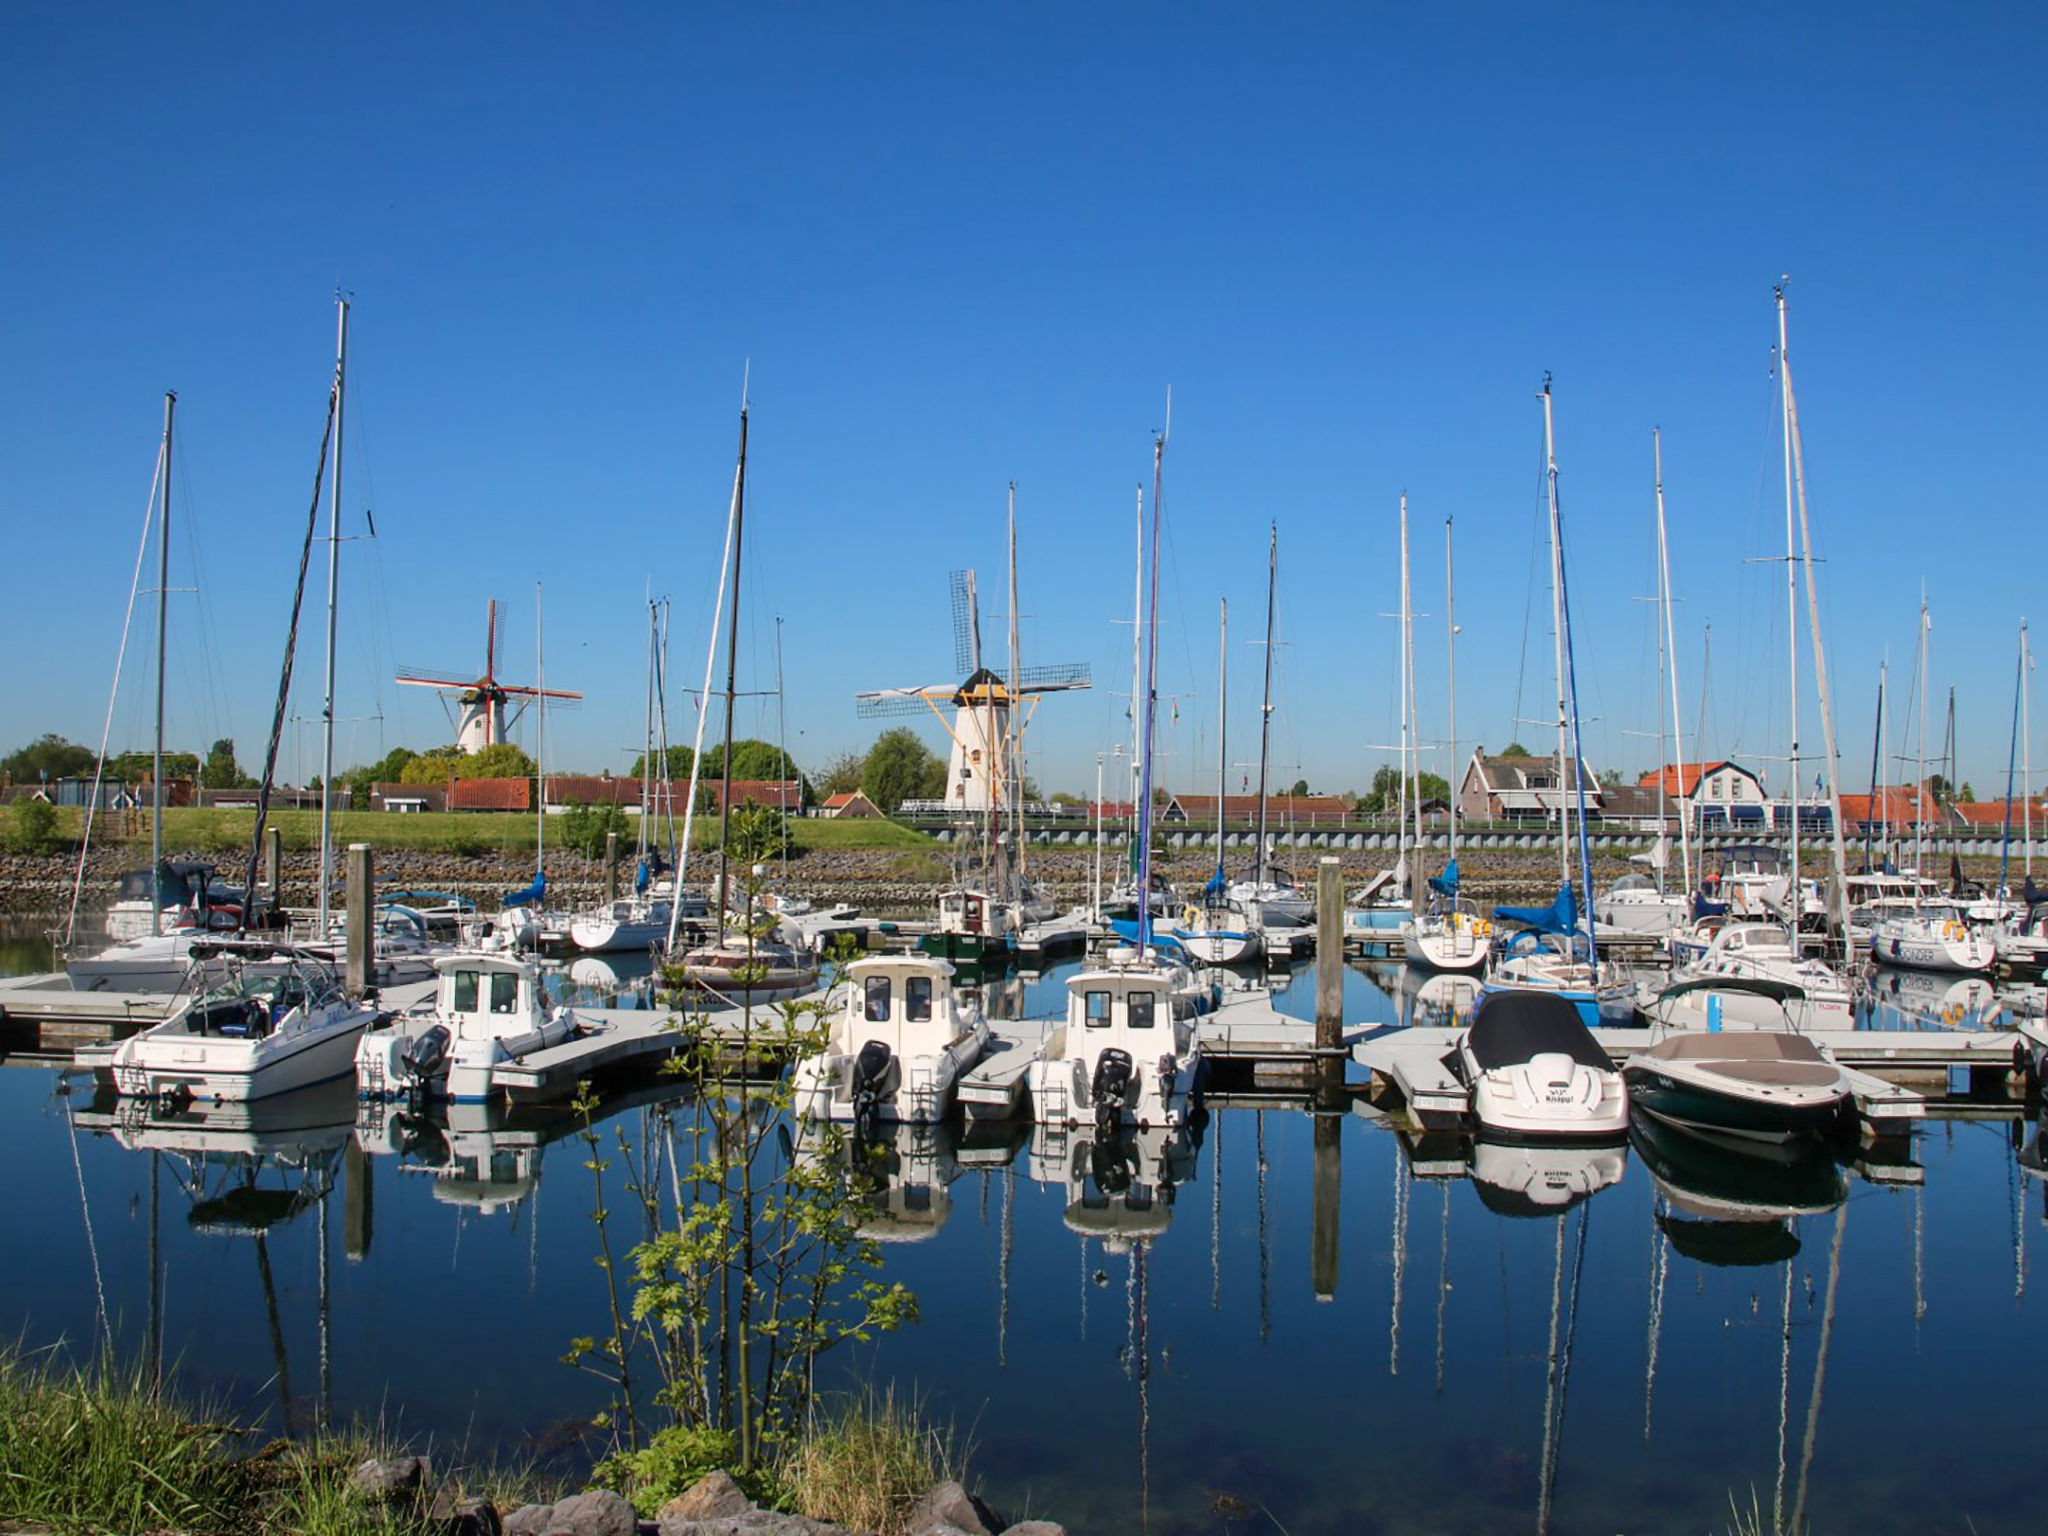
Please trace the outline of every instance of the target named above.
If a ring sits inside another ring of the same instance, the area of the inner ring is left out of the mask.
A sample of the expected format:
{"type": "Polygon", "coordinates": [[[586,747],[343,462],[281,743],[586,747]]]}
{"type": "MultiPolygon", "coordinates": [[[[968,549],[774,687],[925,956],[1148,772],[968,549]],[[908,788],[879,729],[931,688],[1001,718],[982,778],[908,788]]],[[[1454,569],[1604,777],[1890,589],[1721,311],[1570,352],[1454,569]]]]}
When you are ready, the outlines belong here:
{"type": "MultiPolygon", "coordinates": [[[[57,811],[55,836],[66,844],[78,844],[84,815],[66,807],[57,811]]],[[[164,811],[164,846],[209,852],[246,854],[250,831],[256,825],[254,811],[221,811],[197,807],[172,807],[164,811]]],[[[305,852],[319,846],[317,811],[270,811],[270,825],[279,829],[287,852],[305,852]]],[[[549,819],[553,829],[553,817],[549,819]]],[[[924,850],[936,844],[922,831],[899,827],[895,821],[831,821],[823,817],[791,817],[791,836],[797,848],[901,848],[924,850]]],[[[694,844],[711,848],[717,840],[717,817],[700,817],[694,827],[694,844]]],[[[631,834],[629,834],[631,836],[631,834]]],[[[391,811],[336,811],[334,842],[367,842],[371,848],[406,848],[428,854],[455,856],[498,856],[524,854],[532,848],[535,819],[526,813],[510,811],[420,811],[412,815],[391,811]]],[[[109,811],[94,817],[94,846],[127,844],[147,850],[147,811],[109,811]]],[[[627,842],[623,838],[623,842],[627,842]]],[[[627,842],[631,854],[631,842],[627,842]]],[[[147,860],[143,860],[147,862],[147,860]]]]}

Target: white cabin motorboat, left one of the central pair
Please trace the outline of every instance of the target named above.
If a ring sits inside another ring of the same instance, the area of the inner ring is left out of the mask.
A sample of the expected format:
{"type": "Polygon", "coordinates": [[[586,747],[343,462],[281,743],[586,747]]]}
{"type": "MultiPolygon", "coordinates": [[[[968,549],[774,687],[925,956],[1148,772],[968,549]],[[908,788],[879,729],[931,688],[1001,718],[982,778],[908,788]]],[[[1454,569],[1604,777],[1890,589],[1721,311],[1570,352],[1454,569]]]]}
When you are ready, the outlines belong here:
{"type": "Polygon", "coordinates": [[[860,1126],[944,1120],[961,1073],[989,1044],[975,993],[954,991],[952,975],[948,961],[918,952],[848,965],[825,1049],[797,1061],[797,1114],[860,1126]]]}

